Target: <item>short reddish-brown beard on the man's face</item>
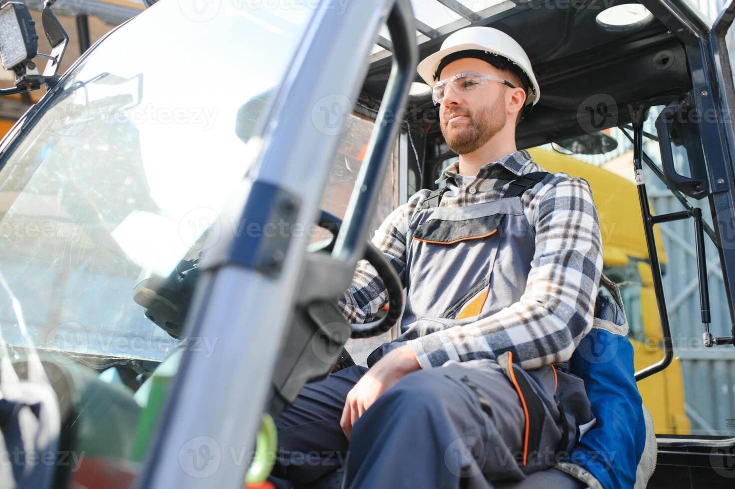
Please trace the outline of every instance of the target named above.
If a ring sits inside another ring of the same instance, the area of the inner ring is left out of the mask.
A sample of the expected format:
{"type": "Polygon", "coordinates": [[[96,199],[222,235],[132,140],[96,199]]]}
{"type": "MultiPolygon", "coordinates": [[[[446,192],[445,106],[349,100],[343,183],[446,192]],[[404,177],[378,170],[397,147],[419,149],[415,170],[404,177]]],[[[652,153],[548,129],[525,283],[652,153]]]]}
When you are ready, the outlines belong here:
{"type": "Polygon", "coordinates": [[[448,113],[467,115],[469,120],[462,126],[449,126],[448,121],[442,121],[440,128],[449,149],[456,154],[469,154],[484,146],[493,136],[505,127],[506,118],[503,112],[503,101],[498,97],[495,104],[483,107],[473,115],[470,110],[456,110],[448,113]]]}

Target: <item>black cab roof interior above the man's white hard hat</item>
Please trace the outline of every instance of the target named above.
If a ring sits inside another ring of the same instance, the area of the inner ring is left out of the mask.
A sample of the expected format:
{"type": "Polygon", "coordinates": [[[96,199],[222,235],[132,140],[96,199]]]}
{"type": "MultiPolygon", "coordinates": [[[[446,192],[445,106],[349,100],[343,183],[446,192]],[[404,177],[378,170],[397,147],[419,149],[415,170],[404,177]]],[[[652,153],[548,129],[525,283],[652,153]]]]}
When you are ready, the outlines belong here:
{"type": "MultiPolygon", "coordinates": [[[[659,0],[640,3],[650,7],[659,0]]],[[[542,93],[539,103],[517,127],[519,148],[628,124],[639,107],[667,104],[692,88],[684,46],[684,41],[691,40],[691,26],[671,29],[675,19],[664,15],[661,17],[667,25],[652,15],[642,25],[628,29],[609,29],[596,20],[603,10],[640,3],[412,0],[419,60],[438,51],[451,32],[466,26],[492,26],[517,40],[531,60],[542,93]],[[600,102],[612,110],[600,109],[600,102]]],[[[679,3],[686,7],[685,1],[679,3]]],[[[390,75],[392,45],[385,30],[378,42],[362,91],[368,103],[381,99],[390,75]]],[[[418,75],[415,81],[421,82],[418,75]]],[[[440,135],[430,94],[412,97],[409,106],[409,124],[431,124],[429,135],[440,135]]]]}

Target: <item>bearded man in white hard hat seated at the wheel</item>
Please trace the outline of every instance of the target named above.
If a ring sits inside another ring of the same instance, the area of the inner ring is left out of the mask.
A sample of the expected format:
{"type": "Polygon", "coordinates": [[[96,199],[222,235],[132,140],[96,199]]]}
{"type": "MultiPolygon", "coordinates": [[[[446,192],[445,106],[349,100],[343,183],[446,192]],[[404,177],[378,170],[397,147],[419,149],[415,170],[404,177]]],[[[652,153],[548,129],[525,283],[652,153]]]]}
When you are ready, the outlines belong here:
{"type": "MultiPolygon", "coordinates": [[[[540,96],[526,53],[469,27],[418,71],[459,161],[443,190],[420,190],[373,238],[407,289],[401,335],[369,369],[306,385],[277,421],[275,474],[297,484],[348,454],[349,488],[492,487],[553,467],[593,419],[564,364],[592,327],[598,218],[587,182],[516,149],[515,126],[540,96]]],[[[360,263],[345,315],[370,321],[386,301],[360,263]]]]}

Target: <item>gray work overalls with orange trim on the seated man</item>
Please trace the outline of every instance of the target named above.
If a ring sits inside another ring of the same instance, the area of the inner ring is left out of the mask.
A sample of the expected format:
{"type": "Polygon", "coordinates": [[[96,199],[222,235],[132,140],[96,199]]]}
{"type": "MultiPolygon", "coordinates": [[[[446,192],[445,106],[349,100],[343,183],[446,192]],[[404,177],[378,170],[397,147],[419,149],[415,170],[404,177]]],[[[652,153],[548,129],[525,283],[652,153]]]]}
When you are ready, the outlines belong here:
{"type": "MultiPolygon", "coordinates": [[[[515,179],[502,199],[483,204],[439,207],[443,191],[423,202],[406,237],[401,335],[373,351],[368,365],[407,340],[519,301],[535,248],[519,196],[546,175],[515,179]]],[[[513,360],[506,352],[406,374],[356,421],[350,440],[340,418],[368,368],[309,382],[276,420],[273,474],[310,488],[326,487],[315,481],[332,476],[339,482],[340,474],[345,488],[508,489],[528,474],[542,476],[542,483],[534,479],[538,487],[579,488],[572,477],[543,469],[592,426],[584,382],[561,365],[524,371],[513,360]],[[301,462],[306,453],[313,463],[301,462]],[[345,457],[344,472],[334,471],[334,454],[345,457]]]]}

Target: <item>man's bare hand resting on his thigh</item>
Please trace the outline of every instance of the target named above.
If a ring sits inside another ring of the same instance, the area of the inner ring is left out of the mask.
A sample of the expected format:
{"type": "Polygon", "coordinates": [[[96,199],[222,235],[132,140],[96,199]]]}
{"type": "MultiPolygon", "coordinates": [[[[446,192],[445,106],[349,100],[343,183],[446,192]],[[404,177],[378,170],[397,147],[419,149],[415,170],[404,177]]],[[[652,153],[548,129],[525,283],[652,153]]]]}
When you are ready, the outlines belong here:
{"type": "Polygon", "coordinates": [[[340,421],[345,436],[350,438],[352,425],[386,390],[404,375],[419,368],[416,355],[408,346],[401,346],[378,360],[347,394],[340,421]]]}

